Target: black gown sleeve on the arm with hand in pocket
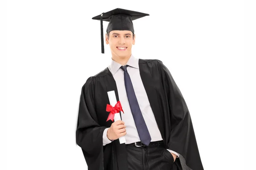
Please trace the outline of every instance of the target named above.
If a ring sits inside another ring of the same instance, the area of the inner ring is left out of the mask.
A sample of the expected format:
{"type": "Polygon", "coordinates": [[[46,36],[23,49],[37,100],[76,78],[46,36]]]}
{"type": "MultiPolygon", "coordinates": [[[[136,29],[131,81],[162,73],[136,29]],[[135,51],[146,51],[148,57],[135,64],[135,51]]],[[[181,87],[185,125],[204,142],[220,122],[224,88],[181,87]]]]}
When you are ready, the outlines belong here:
{"type": "Polygon", "coordinates": [[[158,65],[171,117],[167,149],[175,150],[180,154],[179,159],[183,170],[204,170],[186,102],[168,68],[160,60],[158,65]]]}

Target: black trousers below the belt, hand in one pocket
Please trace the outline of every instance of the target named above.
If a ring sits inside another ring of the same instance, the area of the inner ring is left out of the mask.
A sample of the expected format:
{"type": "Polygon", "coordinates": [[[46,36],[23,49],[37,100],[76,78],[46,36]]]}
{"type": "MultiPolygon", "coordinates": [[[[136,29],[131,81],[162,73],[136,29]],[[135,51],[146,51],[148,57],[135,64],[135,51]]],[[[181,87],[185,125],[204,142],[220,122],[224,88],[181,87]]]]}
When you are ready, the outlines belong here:
{"type": "Polygon", "coordinates": [[[173,159],[164,147],[136,147],[126,144],[128,170],[182,170],[179,158],[173,159]]]}

